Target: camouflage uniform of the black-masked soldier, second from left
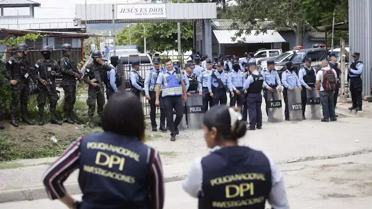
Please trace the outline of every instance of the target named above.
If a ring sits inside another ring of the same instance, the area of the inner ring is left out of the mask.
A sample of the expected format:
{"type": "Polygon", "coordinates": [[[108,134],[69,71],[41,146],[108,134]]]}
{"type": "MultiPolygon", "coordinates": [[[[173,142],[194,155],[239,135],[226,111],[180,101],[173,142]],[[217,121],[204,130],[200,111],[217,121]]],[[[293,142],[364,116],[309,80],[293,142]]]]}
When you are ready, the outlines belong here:
{"type": "Polygon", "coordinates": [[[57,85],[55,84],[55,76],[51,75],[52,71],[57,73],[57,77],[61,76],[61,69],[55,60],[45,60],[42,58],[38,60],[35,64],[36,74],[35,78],[38,80],[39,93],[38,93],[38,107],[40,115],[44,115],[44,106],[47,98],[49,99],[50,112],[53,119],[56,118],[55,109],[57,107],[57,102],[60,97],[55,89],[57,85]],[[48,86],[44,86],[41,80],[45,80],[48,86]],[[51,82],[51,83],[50,83],[51,82]],[[50,91],[48,91],[48,87],[50,91]]]}

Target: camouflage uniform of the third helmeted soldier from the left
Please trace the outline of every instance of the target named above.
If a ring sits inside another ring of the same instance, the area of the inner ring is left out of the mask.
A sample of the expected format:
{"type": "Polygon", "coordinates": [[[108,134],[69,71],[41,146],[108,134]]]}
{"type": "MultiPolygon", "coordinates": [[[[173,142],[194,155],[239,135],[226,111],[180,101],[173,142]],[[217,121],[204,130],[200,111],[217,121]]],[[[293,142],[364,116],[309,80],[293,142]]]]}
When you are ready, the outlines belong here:
{"type": "Polygon", "coordinates": [[[63,110],[66,118],[73,119],[74,116],[74,104],[76,102],[76,78],[75,72],[71,68],[70,57],[63,55],[60,60],[60,67],[62,73],[62,88],[65,93],[65,103],[63,110]]]}

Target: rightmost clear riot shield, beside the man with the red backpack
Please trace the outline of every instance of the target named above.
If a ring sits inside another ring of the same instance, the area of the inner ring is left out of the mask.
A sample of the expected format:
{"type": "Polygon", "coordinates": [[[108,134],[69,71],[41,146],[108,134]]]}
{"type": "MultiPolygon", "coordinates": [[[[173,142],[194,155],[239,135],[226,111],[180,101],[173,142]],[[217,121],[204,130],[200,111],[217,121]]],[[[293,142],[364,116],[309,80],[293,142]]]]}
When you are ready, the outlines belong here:
{"type": "Polygon", "coordinates": [[[312,88],[311,91],[306,89],[306,97],[306,118],[310,120],[320,120],[320,98],[317,89],[312,88]]]}

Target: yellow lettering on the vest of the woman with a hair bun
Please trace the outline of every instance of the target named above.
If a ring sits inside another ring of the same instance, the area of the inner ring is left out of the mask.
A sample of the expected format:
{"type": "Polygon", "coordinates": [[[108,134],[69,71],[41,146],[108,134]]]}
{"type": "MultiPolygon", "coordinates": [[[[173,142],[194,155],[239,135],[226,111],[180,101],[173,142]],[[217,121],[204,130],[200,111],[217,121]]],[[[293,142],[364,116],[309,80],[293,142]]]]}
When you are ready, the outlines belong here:
{"type": "MultiPolygon", "coordinates": [[[[234,175],[228,175],[223,177],[218,177],[211,180],[211,186],[215,186],[218,184],[227,184],[225,186],[225,195],[226,198],[234,198],[234,197],[243,197],[245,192],[249,192],[250,195],[254,195],[254,184],[251,183],[241,183],[237,184],[228,184],[234,181],[241,181],[241,180],[261,180],[265,181],[265,174],[263,173],[240,173],[234,175]]],[[[264,196],[255,197],[255,198],[248,198],[243,200],[231,200],[231,201],[213,201],[212,206],[216,208],[234,208],[239,206],[248,206],[254,205],[256,203],[262,203],[265,201],[264,196]]]]}

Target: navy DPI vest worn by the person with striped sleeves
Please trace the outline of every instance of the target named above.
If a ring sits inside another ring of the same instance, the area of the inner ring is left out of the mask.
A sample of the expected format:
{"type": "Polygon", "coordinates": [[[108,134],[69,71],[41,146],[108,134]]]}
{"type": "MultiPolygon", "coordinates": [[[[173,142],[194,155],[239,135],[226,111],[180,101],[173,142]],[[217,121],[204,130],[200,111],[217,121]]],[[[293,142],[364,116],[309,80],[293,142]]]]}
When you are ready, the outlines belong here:
{"type": "Polygon", "coordinates": [[[150,208],[148,162],[154,155],[149,150],[134,137],[110,132],[85,136],[78,176],[84,208],[150,208]]]}

